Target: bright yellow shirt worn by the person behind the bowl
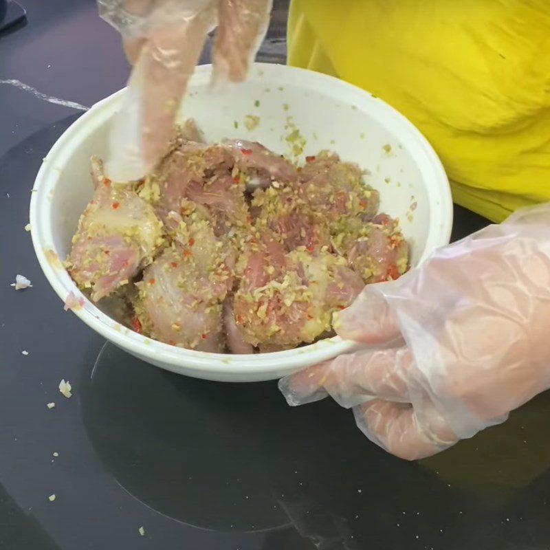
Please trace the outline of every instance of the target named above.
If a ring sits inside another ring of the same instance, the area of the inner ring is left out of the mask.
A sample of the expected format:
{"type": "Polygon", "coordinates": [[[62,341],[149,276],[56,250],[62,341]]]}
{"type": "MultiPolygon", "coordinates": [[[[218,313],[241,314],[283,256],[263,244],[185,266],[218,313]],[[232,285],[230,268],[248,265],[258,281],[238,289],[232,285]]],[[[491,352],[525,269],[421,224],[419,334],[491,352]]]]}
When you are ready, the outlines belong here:
{"type": "Polygon", "coordinates": [[[493,221],[550,201],[550,0],[292,0],[289,63],[393,105],[454,200],[493,221]]]}

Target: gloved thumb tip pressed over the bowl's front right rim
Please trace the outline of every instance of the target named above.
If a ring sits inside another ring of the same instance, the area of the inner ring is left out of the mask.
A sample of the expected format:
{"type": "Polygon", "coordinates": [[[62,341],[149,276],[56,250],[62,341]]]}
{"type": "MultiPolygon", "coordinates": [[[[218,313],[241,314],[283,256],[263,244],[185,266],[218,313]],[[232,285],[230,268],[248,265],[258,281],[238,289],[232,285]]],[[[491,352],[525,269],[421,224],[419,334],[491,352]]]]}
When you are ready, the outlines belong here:
{"type": "Polygon", "coordinates": [[[363,344],[388,344],[401,336],[397,319],[386,299],[366,287],[353,304],[336,316],[339,336],[363,344]]]}

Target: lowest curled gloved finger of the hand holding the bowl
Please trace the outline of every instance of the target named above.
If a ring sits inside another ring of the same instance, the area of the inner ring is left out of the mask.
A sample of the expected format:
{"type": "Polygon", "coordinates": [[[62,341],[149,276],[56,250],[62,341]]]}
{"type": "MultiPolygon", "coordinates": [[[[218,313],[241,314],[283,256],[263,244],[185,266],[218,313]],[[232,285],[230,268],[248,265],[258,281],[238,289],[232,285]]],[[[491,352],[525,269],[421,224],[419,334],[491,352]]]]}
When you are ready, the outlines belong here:
{"type": "Polygon", "coordinates": [[[410,404],[374,399],[354,408],[358,428],[373,443],[401,459],[418,460],[437,454],[458,441],[448,426],[421,426],[410,404]]]}

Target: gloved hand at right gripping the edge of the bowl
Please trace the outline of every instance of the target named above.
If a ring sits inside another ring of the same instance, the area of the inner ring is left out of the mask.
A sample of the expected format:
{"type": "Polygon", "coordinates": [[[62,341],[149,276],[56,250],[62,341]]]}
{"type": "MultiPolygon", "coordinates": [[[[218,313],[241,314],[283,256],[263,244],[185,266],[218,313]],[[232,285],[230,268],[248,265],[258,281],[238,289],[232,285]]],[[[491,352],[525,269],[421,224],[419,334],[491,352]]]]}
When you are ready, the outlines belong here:
{"type": "Polygon", "coordinates": [[[331,395],[359,428],[421,459],[501,423],[550,387],[550,203],[365,287],[336,330],[368,344],[287,377],[291,405],[331,395]]]}

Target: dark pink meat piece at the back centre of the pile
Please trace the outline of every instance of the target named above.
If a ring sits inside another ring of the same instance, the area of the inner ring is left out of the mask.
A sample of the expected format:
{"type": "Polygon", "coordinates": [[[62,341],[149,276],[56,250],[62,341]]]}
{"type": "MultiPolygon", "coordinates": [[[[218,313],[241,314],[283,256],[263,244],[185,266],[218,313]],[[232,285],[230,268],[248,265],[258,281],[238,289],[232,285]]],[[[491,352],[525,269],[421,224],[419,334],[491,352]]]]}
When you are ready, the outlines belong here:
{"type": "Polygon", "coordinates": [[[235,166],[243,174],[248,190],[265,189],[273,181],[286,183],[299,179],[291,162],[259,143],[226,140],[223,145],[232,152],[235,166]]]}

